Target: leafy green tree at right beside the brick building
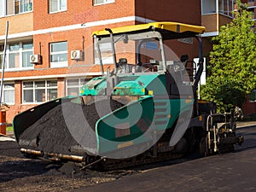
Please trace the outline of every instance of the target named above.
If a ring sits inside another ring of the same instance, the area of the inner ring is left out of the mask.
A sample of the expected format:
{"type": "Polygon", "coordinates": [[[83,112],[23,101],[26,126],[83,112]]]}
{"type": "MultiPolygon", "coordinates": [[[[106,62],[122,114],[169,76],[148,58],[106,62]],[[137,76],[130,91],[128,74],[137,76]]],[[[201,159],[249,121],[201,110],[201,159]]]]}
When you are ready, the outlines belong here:
{"type": "Polygon", "coordinates": [[[207,85],[201,90],[203,99],[216,102],[218,112],[237,105],[241,108],[245,96],[256,87],[256,34],[253,13],[247,5],[237,2],[235,19],[221,26],[212,38],[207,85]]]}

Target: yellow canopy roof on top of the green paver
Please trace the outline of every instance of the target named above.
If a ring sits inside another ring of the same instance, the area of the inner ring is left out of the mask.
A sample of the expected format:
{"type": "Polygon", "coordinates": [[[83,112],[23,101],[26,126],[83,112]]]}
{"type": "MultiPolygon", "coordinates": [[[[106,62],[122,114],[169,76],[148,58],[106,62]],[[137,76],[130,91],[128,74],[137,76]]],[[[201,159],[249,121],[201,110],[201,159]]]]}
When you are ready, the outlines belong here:
{"type": "MultiPolygon", "coordinates": [[[[139,24],[133,26],[120,26],[116,28],[111,28],[113,34],[123,33],[123,32],[135,32],[141,30],[147,30],[150,28],[163,29],[171,32],[195,32],[202,33],[205,32],[206,28],[204,26],[193,26],[189,24],[177,23],[177,22],[154,22],[148,24],[139,24]]],[[[93,32],[92,35],[104,36],[109,35],[106,30],[99,30],[93,32]]]]}

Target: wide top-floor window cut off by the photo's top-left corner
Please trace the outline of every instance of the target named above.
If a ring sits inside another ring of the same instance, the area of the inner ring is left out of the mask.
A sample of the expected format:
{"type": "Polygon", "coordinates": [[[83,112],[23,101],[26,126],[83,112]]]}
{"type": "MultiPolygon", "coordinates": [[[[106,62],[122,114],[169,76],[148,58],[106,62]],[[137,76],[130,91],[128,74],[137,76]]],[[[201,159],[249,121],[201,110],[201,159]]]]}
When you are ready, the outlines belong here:
{"type": "Polygon", "coordinates": [[[32,11],[32,0],[0,0],[0,17],[32,11]]]}

